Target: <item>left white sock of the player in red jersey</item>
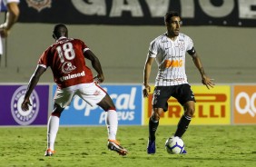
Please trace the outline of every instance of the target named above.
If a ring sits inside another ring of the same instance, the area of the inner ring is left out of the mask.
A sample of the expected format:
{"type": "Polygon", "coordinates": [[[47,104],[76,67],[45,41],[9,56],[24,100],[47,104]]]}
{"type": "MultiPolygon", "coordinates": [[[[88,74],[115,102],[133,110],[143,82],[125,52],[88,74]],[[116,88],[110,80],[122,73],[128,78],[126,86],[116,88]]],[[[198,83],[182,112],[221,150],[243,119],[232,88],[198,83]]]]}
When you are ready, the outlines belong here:
{"type": "Polygon", "coordinates": [[[50,116],[47,124],[47,148],[54,151],[54,142],[59,129],[60,118],[50,116]]]}

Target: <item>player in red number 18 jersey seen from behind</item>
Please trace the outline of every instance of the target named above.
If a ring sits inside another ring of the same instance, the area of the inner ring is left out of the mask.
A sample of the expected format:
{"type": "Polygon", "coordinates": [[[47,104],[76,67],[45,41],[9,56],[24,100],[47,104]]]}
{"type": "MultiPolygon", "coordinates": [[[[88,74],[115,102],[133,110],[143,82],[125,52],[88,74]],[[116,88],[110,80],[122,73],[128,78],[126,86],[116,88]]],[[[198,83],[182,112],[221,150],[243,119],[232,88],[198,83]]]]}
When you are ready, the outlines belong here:
{"type": "Polygon", "coordinates": [[[107,113],[106,125],[108,130],[107,147],[120,155],[126,155],[127,151],[116,141],[118,120],[115,106],[109,94],[98,84],[104,80],[102,66],[99,59],[84,44],[83,41],[68,38],[67,27],[63,24],[54,26],[55,43],[49,46],[40,56],[37,68],[28,83],[22,109],[27,111],[31,105],[29,96],[38,83],[40,77],[50,67],[54,74],[54,82],[58,87],[54,94],[54,111],[47,125],[47,150],[45,156],[54,154],[54,142],[59,129],[61,113],[74,98],[81,97],[90,105],[97,104],[107,113]],[[97,76],[85,64],[85,59],[91,61],[97,76]],[[97,82],[94,82],[96,80],[97,82]]]}

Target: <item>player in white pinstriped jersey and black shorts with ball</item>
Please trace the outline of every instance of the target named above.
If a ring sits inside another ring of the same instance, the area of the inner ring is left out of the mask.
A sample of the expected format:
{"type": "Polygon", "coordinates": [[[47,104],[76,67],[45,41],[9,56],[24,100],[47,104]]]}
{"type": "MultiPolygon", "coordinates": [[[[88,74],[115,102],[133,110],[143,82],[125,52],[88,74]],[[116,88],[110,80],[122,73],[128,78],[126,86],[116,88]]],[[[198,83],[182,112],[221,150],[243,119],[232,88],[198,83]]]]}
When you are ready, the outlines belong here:
{"type": "MultiPolygon", "coordinates": [[[[167,101],[171,96],[176,98],[184,109],[174,136],[182,138],[192,120],[195,110],[195,99],[185,74],[186,53],[192,56],[192,61],[202,76],[202,83],[208,89],[214,85],[212,79],[204,73],[202,61],[193,47],[192,39],[188,35],[180,33],[182,23],[180,15],[174,11],[168,12],[164,16],[164,21],[167,32],[156,37],[151,42],[143,71],[143,96],[148,97],[151,92],[149,78],[153,61],[155,60],[158,64],[158,74],[153,91],[153,111],[149,119],[149,139],[147,145],[147,152],[149,154],[156,152],[155,133],[160,115],[168,110],[167,101]]],[[[182,153],[186,153],[186,151],[182,153]]]]}

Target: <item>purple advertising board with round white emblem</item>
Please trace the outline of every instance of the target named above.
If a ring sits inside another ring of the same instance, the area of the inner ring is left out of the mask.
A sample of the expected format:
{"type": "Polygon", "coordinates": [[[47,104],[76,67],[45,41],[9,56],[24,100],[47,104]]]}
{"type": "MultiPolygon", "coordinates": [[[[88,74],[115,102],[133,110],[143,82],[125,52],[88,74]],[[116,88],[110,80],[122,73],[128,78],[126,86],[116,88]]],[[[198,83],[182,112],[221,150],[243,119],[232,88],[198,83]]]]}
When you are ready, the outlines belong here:
{"type": "Polygon", "coordinates": [[[25,85],[0,85],[0,125],[47,124],[49,85],[35,87],[26,112],[21,109],[25,91],[25,85]]]}

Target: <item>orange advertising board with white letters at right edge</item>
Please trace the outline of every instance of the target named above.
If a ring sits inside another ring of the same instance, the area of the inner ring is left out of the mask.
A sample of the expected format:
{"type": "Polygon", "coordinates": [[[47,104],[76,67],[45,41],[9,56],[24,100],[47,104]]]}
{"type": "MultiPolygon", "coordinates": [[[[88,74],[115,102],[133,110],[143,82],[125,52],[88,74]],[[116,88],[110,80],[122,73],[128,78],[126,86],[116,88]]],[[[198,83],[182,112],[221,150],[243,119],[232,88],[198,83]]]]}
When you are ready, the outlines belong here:
{"type": "Polygon", "coordinates": [[[256,123],[256,85],[233,86],[233,123],[256,123]]]}

